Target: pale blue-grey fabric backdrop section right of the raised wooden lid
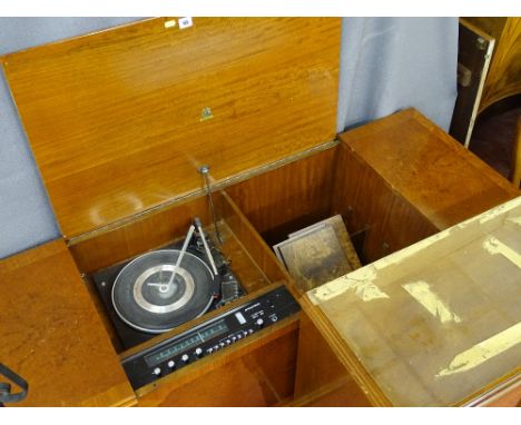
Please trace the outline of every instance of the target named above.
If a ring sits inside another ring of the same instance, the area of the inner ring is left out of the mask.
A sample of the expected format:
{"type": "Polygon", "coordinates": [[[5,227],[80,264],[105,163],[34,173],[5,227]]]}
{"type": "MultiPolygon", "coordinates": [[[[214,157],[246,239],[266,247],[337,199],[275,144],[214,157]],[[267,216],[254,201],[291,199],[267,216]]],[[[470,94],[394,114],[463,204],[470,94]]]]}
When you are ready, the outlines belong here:
{"type": "Polygon", "coordinates": [[[338,131],[414,107],[449,130],[458,18],[344,18],[338,131]]]}

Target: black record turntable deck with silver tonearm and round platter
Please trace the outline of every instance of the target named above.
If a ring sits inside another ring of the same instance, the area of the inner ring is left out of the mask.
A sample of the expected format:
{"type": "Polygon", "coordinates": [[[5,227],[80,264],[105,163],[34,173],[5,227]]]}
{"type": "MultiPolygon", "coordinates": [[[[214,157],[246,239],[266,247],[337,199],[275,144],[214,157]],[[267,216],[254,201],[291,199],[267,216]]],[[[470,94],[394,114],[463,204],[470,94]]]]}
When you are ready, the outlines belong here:
{"type": "Polygon", "coordinates": [[[184,243],[99,270],[92,279],[124,348],[171,330],[245,293],[198,218],[184,243]]]}

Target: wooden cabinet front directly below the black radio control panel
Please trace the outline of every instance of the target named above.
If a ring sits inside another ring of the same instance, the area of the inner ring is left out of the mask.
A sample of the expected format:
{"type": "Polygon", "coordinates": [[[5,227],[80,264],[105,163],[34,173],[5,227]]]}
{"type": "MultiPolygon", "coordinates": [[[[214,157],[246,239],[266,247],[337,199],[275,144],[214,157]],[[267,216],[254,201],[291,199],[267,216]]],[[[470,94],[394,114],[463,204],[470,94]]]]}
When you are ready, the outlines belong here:
{"type": "Polygon", "coordinates": [[[298,315],[140,388],[139,406],[272,406],[293,396],[298,315]]]}

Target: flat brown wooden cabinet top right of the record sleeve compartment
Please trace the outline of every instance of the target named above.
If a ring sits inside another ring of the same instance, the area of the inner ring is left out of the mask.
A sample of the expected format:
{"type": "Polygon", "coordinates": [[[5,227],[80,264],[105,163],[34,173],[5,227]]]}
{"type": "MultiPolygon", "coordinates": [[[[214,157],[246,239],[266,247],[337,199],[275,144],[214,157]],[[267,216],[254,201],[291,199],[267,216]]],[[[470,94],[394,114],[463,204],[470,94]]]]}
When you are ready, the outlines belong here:
{"type": "Polygon", "coordinates": [[[346,131],[340,139],[440,230],[520,195],[414,109],[346,131]]]}

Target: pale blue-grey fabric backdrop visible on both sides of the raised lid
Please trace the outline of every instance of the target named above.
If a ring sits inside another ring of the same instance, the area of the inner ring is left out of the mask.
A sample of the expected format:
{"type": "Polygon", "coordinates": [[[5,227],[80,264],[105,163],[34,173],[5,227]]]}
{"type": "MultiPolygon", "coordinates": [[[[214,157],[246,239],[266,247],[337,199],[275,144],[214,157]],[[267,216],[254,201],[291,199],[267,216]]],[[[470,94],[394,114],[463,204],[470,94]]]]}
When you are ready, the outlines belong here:
{"type": "MultiPolygon", "coordinates": [[[[0,18],[0,55],[139,18],[0,18]]],[[[448,129],[456,18],[344,18],[337,130],[415,107],[448,129]]],[[[60,235],[0,76],[0,258],[60,235]]]]}

